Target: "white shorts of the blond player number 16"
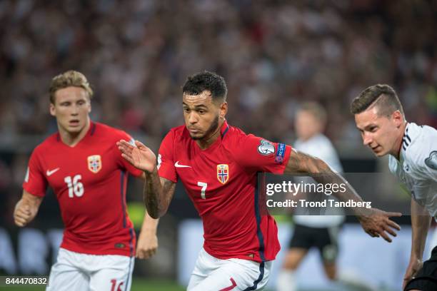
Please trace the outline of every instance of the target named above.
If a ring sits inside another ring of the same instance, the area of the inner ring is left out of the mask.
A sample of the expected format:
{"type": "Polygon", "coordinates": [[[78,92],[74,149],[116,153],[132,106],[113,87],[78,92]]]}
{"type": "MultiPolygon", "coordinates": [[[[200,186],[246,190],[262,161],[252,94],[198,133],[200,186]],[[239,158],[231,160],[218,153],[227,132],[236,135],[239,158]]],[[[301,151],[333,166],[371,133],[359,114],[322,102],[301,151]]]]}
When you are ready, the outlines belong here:
{"type": "Polygon", "coordinates": [[[88,255],[60,248],[46,290],[129,291],[134,260],[124,255],[88,255]]]}

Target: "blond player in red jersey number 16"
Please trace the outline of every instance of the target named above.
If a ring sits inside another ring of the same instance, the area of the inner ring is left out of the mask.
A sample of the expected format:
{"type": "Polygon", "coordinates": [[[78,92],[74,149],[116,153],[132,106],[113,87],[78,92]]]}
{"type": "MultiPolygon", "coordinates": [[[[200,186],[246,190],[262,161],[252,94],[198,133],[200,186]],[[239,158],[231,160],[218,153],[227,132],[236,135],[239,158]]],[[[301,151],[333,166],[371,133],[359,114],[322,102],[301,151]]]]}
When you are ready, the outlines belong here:
{"type": "MultiPolygon", "coordinates": [[[[86,77],[66,71],[52,79],[50,113],[58,133],[31,154],[14,220],[23,227],[34,219],[49,185],[64,221],[64,238],[51,267],[47,290],[130,290],[135,234],[126,210],[130,173],[144,173],[120,157],[116,141],[124,131],[90,121],[93,91],[86,77]]],[[[156,252],[157,220],[146,215],[136,256],[156,252]]]]}

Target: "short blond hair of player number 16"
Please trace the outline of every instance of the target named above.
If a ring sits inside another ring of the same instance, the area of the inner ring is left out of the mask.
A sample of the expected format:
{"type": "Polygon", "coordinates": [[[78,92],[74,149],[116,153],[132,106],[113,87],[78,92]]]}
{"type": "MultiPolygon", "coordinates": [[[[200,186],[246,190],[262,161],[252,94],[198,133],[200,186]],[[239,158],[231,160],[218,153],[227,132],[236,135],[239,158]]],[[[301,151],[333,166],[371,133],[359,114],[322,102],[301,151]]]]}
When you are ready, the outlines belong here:
{"type": "Polygon", "coordinates": [[[64,73],[60,73],[58,76],[51,79],[50,83],[50,103],[55,103],[55,93],[59,89],[67,88],[67,87],[80,87],[84,88],[86,93],[88,93],[88,97],[91,99],[93,96],[93,89],[91,89],[91,85],[83,73],[78,71],[66,71],[64,73]]]}

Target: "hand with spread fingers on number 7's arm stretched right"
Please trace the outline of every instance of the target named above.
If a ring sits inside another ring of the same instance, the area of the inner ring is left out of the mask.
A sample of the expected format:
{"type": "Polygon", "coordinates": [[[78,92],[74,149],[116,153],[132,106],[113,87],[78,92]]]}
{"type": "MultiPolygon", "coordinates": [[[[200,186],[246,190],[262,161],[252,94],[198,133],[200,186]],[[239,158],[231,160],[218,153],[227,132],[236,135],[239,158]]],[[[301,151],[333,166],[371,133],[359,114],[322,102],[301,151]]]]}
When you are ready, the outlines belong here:
{"type": "Polygon", "coordinates": [[[381,236],[384,240],[391,242],[388,234],[396,237],[395,230],[401,230],[401,227],[393,220],[390,220],[390,218],[401,215],[401,213],[387,213],[378,208],[371,208],[366,215],[358,216],[358,220],[363,230],[372,238],[379,238],[381,236]]]}

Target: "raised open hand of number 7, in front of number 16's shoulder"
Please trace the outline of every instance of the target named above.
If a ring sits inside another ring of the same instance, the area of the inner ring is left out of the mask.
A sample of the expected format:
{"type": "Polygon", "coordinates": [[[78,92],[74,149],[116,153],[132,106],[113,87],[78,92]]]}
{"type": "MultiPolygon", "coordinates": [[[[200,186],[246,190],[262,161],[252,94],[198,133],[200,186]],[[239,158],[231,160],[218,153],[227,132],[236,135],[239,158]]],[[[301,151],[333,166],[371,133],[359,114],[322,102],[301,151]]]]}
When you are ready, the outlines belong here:
{"type": "Polygon", "coordinates": [[[143,143],[135,141],[135,146],[133,146],[131,143],[121,140],[117,142],[117,146],[121,151],[121,156],[135,168],[148,173],[154,171],[156,167],[156,155],[150,148],[144,146],[143,143]]]}

